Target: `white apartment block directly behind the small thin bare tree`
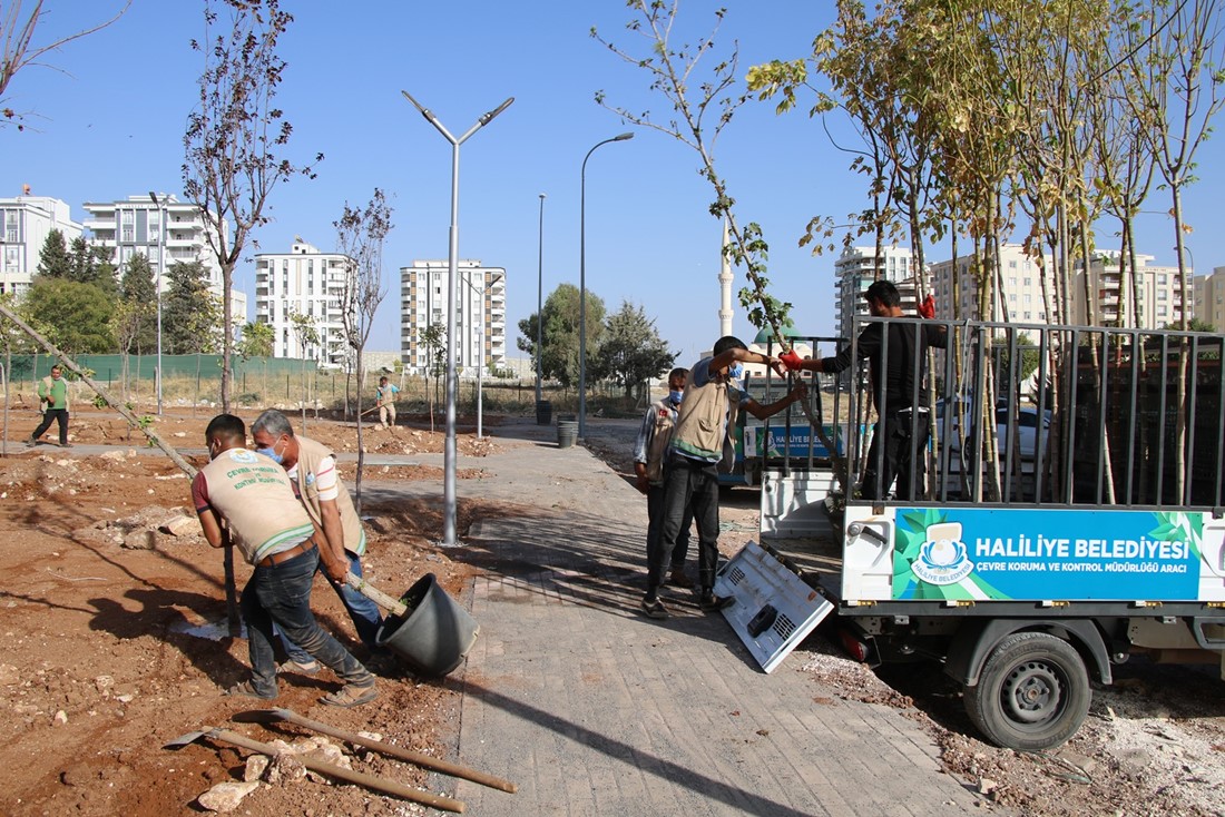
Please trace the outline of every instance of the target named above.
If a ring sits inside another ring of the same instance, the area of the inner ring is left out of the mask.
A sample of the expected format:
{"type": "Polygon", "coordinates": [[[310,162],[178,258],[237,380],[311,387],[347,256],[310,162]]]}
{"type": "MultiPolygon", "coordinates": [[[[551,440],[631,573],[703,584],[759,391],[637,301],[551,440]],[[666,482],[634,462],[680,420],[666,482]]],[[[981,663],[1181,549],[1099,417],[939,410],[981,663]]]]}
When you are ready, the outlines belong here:
{"type": "Polygon", "coordinates": [[[327,366],[348,359],[341,311],[349,260],[339,252],[320,252],[295,236],[289,252],[255,256],[255,320],[272,326],[273,358],[305,356],[327,366]],[[294,315],[304,315],[318,343],[303,349],[294,315]]]}

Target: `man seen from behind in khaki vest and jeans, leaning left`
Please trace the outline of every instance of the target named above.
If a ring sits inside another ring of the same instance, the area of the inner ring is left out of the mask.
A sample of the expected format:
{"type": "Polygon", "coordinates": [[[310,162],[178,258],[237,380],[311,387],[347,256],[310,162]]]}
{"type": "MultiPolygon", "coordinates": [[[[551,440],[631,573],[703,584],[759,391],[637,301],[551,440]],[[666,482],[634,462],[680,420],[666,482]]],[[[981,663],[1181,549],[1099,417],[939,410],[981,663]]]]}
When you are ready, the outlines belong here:
{"type": "Polygon", "coordinates": [[[247,451],[246,429],[233,414],[218,414],[205,430],[209,463],[191,484],[205,539],[213,548],[233,540],[255,568],[243,589],[251,677],[225,695],[277,697],[272,626],[336,672],[344,686],[320,698],[355,707],[379,697],[375,679],[336,638],[318,626],[310,592],[320,560],[328,578],[343,582],[347,565],[316,546],[316,527],[294,496],[289,475],[276,462],[247,451]],[[222,527],[224,523],[224,528],[222,527]]]}

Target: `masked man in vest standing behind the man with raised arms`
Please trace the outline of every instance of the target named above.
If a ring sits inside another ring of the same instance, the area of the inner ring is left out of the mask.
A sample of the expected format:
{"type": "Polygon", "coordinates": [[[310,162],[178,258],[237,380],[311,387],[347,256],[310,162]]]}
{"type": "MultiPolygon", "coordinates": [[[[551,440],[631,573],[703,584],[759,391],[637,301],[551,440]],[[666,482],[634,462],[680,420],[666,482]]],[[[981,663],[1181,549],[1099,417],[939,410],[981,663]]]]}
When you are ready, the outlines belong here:
{"type": "MultiPolygon", "coordinates": [[[[664,527],[664,464],[676,427],[676,409],[685,397],[685,378],[688,369],[677,366],[668,372],[668,396],[652,403],[642,418],[638,439],[633,446],[633,473],[637,488],[647,495],[647,557],[659,546],[664,527]]],[[[671,556],[669,584],[686,590],[693,589],[693,579],[685,573],[685,556],[688,555],[690,527],[693,508],[686,508],[680,533],[671,556]]]]}

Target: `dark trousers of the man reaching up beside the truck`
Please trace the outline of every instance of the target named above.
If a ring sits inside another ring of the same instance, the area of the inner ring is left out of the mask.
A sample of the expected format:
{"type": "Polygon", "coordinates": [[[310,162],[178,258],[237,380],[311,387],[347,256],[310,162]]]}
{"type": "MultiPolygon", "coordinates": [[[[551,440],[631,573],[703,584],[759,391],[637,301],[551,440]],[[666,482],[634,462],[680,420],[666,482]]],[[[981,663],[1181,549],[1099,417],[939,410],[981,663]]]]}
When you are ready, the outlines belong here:
{"type": "Polygon", "coordinates": [[[714,587],[719,563],[719,469],[688,457],[673,456],[664,476],[664,524],[659,543],[647,554],[647,597],[654,598],[668,578],[673,550],[688,518],[697,522],[697,582],[702,594],[714,587]]]}

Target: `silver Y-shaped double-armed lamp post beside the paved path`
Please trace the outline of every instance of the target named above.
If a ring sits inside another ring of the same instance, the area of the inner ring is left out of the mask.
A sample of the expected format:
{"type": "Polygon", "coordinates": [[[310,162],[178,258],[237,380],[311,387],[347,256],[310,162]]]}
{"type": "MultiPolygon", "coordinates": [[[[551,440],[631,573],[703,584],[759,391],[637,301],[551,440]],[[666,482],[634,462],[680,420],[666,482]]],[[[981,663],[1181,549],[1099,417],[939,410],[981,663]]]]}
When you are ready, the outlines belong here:
{"type": "Polygon", "coordinates": [[[506,102],[494,110],[481,114],[477,124],[456,138],[451,131],[439,121],[429,108],[423,107],[413,99],[407,91],[401,91],[404,98],[413,103],[413,107],[421,111],[421,116],[434,125],[442,137],[451,142],[451,239],[447,246],[447,272],[451,277],[447,287],[447,436],[442,448],[442,544],[453,546],[456,540],[456,303],[459,300],[459,146],[469,136],[488,125],[494,116],[511,107],[514,97],[507,97],[506,102]]]}

